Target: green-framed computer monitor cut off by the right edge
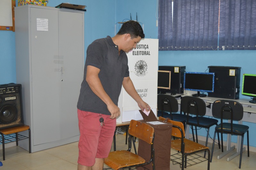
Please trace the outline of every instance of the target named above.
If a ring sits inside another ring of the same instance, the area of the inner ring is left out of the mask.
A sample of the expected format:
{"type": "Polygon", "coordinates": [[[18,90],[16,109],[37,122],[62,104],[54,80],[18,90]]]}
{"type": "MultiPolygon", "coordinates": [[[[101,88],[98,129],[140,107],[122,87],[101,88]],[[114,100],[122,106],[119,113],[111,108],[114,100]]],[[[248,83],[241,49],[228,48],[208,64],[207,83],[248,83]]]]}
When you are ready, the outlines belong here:
{"type": "Polygon", "coordinates": [[[242,95],[252,96],[251,103],[256,103],[256,74],[243,74],[242,95]]]}

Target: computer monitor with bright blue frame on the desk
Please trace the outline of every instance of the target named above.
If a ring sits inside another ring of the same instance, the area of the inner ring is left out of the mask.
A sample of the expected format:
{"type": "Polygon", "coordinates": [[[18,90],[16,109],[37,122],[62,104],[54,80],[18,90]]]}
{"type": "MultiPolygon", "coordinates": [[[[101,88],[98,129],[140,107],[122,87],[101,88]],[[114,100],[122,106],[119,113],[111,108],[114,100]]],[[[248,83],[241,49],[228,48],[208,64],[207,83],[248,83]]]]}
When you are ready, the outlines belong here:
{"type": "Polygon", "coordinates": [[[205,97],[206,94],[200,92],[214,91],[214,73],[185,72],[184,90],[197,91],[197,94],[192,96],[205,97]]]}

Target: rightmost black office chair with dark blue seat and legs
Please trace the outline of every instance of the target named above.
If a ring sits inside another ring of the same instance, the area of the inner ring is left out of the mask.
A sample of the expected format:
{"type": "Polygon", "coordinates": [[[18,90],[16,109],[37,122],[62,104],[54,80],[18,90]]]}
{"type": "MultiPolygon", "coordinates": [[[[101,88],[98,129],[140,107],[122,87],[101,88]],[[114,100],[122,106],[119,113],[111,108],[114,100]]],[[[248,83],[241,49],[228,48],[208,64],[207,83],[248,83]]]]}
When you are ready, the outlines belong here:
{"type": "MultiPolygon", "coordinates": [[[[240,161],[239,161],[239,168],[241,168],[244,134],[246,132],[247,132],[247,151],[248,151],[248,157],[249,157],[249,127],[246,125],[233,123],[233,120],[243,119],[244,109],[242,104],[232,100],[216,100],[212,104],[212,115],[213,117],[220,119],[220,124],[217,125],[215,128],[213,141],[215,141],[216,133],[220,132],[222,152],[223,152],[223,139],[222,139],[223,133],[242,136],[240,161]],[[230,123],[223,122],[223,119],[230,120],[230,123]]],[[[212,145],[212,154],[213,154],[213,149],[214,149],[214,145],[212,145]]],[[[212,162],[212,156],[211,156],[211,162],[212,162]]]]}

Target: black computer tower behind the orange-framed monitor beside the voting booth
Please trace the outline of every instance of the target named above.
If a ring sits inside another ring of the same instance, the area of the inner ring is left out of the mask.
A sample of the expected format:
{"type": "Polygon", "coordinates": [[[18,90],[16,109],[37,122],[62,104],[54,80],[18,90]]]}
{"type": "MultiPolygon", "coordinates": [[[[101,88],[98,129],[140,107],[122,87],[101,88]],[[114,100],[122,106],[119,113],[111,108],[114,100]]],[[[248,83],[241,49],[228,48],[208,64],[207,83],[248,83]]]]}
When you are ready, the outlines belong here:
{"type": "Polygon", "coordinates": [[[158,66],[158,70],[171,71],[171,89],[166,89],[166,93],[183,93],[186,66],[158,66]]]}

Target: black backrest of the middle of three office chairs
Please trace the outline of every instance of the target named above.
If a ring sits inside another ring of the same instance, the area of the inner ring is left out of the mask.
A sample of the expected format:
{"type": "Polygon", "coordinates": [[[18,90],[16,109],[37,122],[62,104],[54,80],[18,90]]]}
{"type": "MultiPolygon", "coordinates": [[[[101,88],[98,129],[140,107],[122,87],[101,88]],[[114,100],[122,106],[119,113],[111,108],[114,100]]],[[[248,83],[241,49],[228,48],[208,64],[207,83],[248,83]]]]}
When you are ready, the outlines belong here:
{"type": "Polygon", "coordinates": [[[204,116],[206,113],[206,105],[203,99],[193,96],[185,96],[181,98],[180,109],[182,112],[197,114],[204,116]]]}

